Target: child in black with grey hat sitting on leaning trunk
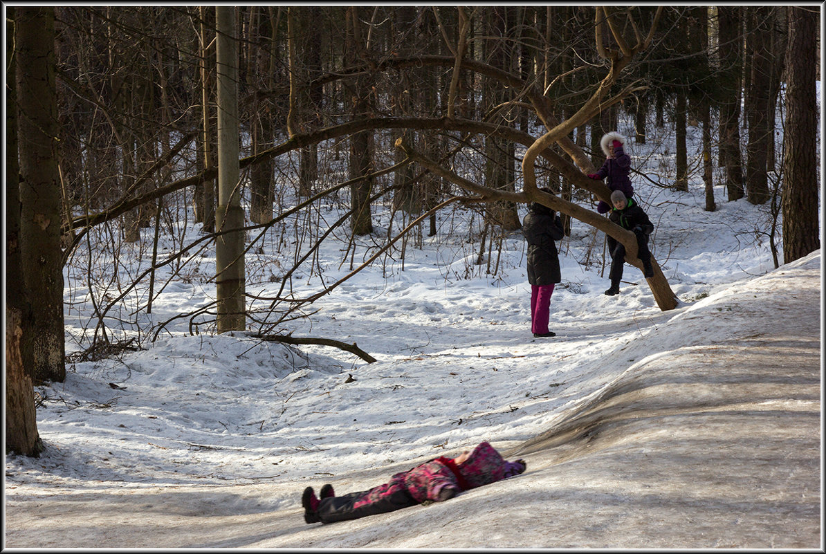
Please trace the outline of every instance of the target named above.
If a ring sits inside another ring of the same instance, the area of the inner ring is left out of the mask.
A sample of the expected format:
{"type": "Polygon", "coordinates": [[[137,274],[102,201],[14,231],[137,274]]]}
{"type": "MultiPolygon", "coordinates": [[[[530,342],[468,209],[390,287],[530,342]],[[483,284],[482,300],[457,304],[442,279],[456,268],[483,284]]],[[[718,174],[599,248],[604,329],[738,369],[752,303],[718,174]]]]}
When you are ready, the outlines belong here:
{"type": "MultiPolygon", "coordinates": [[[[643,275],[654,276],[651,265],[651,252],[648,250],[648,235],[654,230],[654,225],[648,219],[643,208],[639,207],[633,198],[626,198],[621,191],[611,193],[611,203],[614,208],[608,216],[611,221],[623,229],[633,231],[637,237],[637,256],[643,263],[643,275]]],[[[608,250],[611,254],[611,271],[609,278],[611,287],[605,294],[614,296],[619,292],[619,280],[622,279],[623,264],[625,263],[625,247],[616,239],[608,237],[608,250]]]]}

